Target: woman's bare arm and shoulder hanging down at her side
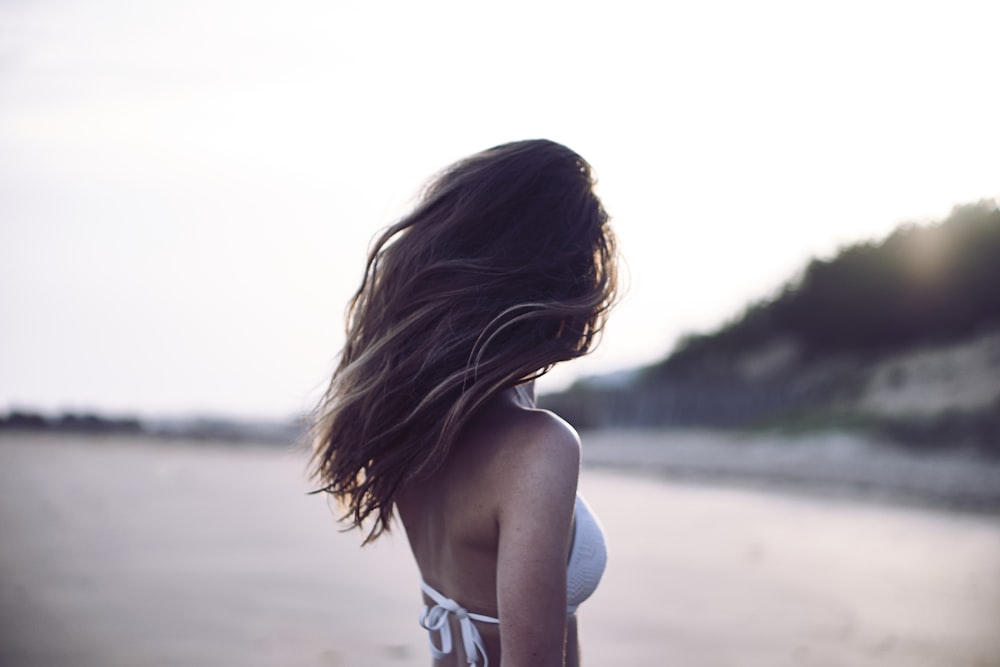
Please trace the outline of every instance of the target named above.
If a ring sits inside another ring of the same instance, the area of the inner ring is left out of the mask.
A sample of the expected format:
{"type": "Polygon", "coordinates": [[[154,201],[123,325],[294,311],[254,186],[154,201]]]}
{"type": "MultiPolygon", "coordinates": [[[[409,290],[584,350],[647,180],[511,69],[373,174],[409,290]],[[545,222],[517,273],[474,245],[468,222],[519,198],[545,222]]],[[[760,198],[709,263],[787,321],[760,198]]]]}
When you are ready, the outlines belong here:
{"type": "Polygon", "coordinates": [[[580,442],[554,415],[536,412],[531,419],[503,468],[497,554],[501,660],[503,667],[563,667],[580,442]]]}

